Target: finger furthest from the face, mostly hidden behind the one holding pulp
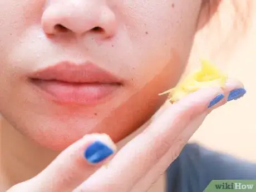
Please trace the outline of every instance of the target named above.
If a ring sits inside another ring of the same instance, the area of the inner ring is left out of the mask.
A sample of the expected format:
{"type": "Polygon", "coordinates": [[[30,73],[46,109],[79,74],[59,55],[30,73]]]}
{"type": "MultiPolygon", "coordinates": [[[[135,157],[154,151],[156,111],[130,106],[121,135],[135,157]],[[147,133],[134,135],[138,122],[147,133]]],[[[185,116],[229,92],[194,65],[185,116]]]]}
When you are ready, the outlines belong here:
{"type": "MultiPolygon", "coordinates": [[[[224,88],[225,99],[213,106],[213,108],[210,108],[209,111],[224,105],[228,100],[230,92],[239,90],[240,88],[243,88],[242,82],[233,79],[228,80],[224,88]]],[[[196,117],[189,124],[189,126],[186,127],[186,129],[177,137],[173,146],[170,147],[168,152],[166,152],[166,154],[161,157],[157,164],[155,164],[151,170],[139,180],[136,185],[134,185],[131,192],[144,192],[150,189],[151,185],[154,184],[160,178],[160,175],[164,174],[166,169],[170,166],[172,163],[170,160],[172,160],[174,156],[177,156],[176,154],[180,154],[181,150],[189,141],[191,136],[193,136],[194,132],[203,123],[209,111],[206,111],[202,115],[196,117]]]]}

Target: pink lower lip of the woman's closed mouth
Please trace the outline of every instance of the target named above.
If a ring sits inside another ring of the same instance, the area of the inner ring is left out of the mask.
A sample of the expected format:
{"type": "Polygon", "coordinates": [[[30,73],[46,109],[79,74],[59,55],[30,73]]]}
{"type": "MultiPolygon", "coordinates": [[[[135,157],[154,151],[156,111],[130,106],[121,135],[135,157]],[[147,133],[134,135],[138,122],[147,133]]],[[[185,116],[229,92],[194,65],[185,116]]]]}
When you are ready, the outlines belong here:
{"type": "Polygon", "coordinates": [[[106,99],[120,88],[119,83],[68,83],[32,80],[33,84],[59,103],[92,105],[106,99]]]}

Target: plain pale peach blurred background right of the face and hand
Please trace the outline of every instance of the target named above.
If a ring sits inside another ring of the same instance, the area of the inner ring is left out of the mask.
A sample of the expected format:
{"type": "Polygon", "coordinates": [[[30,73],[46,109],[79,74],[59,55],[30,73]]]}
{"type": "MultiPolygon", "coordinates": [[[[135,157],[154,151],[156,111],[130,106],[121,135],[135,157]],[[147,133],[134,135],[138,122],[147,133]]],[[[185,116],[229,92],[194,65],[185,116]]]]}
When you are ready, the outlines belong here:
{"type": "MultiPolygon", "coordinates": [[[[230,2],[223,1],[227,6],[230,2]]],[[[256,1],[249,9],[243,5],[246,1],[240,2],[244,14],[237,21],[234,8],[213,18],[224,24],[198,34],[189,67],[200,65],[198,59],[205,57],[242,81],[248,92],[242,99],[213,111],[190,141],[256,162],[256,1]],[[209,33],[213,29],[215,32],[209,33]]]]}

